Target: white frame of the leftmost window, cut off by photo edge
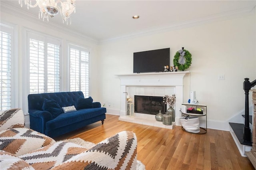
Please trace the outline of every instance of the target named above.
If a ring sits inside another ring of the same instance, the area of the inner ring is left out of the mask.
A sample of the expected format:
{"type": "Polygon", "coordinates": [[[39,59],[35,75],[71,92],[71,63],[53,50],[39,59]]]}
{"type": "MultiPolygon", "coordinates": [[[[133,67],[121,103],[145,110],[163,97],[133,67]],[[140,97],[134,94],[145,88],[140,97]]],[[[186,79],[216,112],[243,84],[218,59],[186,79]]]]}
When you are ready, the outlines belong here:
{"type": "MultiPolygon", "coordinates": [[[[11,108],[19,108],[19,67],[18,67],[18,27],[10,23],[0,23],[0,30],[11,34],[11,108]]],[[[0,108],[1,110],[2,108],[0,108]]]]}

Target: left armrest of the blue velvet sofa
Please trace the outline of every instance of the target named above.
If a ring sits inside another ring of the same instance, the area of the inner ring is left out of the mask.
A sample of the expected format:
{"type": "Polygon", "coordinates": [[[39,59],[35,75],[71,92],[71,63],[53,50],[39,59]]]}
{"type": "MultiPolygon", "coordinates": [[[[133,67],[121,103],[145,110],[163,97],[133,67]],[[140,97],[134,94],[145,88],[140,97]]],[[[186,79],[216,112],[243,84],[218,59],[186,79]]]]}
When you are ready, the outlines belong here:
{"type": "Polygon", "coordinates": [[[52,120],[52,114],[48,111],[29,109],[30,128],[37,132],[45,132],[46,122],[52,120]]]}

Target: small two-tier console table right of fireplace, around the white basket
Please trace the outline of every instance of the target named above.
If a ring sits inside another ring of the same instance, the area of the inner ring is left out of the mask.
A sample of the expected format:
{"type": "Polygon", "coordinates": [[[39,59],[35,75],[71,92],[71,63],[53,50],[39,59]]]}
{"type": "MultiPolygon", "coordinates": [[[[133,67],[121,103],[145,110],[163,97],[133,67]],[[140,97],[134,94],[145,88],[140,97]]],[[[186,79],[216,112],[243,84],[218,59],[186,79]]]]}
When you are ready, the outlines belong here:
{"type": "MultiPolygon", "coordinates": [[[[190,115],[190,116],[198,116],[198,117],[200,117],[200,116],[205,116],[205,117],[206,117],[206,119],[205,119],[205,121],[206,121],[206,127],[205,127],[205,128],[204,128],[204,127],[200,127],[200,132],[198,132],[197,134],[204,134],[204,133],[206,133],[206,132],[207,132],[207,106],[206,106],[206,105],[200,105],[200,104],[191,104],[191,103],[182,103],[182,105],[186,105],[187,108],[188,108],[188,107],[194,107],[194,108],[195,108],[195,113],[193,113],[193,111],[191,111],[191,113],[183,113],[183,112],[181,111],[182,116],[184,116],[184,115],[190,115]],[[196,111],[197,108],[202,108],[202,109],[204,109],[204,111],[202,111],[202,114],[201,114],[201,113],[198,114],[198,111],[196,111]],[[197,113],[196,113],[196,112],[197,112],[197,113]]],[[[182,128],[182,130],[186,131],[183,127],[181,127],[181,128],[182,128]]],[[[186,131],[186,132],[187,132],[187,131],[186,131]]]]}

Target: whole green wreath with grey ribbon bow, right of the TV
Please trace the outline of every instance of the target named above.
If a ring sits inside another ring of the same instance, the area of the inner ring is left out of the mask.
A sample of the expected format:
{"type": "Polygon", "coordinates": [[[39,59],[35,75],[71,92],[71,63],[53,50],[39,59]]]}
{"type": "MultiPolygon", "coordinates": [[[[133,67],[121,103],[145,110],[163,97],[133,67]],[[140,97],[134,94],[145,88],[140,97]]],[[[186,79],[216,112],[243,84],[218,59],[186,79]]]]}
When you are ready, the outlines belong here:
{"type": "Polygon", "coordinates": [[[184,49],[184,47],[182,47],[182,49],[177,51],[174,55],[173,64],[177,66],[179,70],[184,71],[188,69],[188,67],[191,65],[191,62],[192,55],[188,50],[184,49]]]}

